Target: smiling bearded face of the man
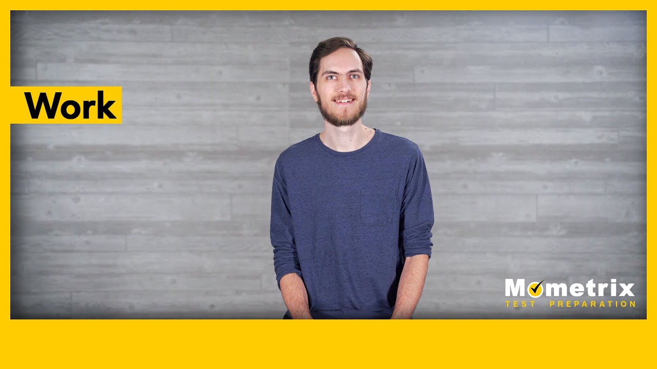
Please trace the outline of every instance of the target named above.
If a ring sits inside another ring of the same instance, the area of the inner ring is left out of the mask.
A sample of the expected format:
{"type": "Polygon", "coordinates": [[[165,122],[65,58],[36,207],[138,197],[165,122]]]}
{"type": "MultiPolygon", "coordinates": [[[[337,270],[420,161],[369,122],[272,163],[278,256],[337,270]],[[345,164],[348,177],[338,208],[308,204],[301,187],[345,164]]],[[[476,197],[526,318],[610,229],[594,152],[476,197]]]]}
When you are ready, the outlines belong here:
{"type": "Polygon", "coordinates": [[[339,49],[319,62],[317,89],[310,82],[310,93],[319,112],[336,127],[353,125],[367,109],[370,83],[365,80],[363,63],[351,49],[339,49]]]}

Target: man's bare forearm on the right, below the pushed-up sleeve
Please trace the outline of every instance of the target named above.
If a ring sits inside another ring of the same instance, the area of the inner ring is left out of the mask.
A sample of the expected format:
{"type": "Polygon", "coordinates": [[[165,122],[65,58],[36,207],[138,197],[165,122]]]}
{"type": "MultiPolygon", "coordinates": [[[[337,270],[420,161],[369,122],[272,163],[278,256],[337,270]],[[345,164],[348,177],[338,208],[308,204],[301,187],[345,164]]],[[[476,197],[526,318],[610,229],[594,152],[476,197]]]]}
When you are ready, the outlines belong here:
{"type": "Polygon", "coordinates": [[[399,278],[397,302],[391,319],[410,319],[413,316],[413,311],[422,295],[428,266],[429,255],[420,254],[406,258],[399,278]]]}

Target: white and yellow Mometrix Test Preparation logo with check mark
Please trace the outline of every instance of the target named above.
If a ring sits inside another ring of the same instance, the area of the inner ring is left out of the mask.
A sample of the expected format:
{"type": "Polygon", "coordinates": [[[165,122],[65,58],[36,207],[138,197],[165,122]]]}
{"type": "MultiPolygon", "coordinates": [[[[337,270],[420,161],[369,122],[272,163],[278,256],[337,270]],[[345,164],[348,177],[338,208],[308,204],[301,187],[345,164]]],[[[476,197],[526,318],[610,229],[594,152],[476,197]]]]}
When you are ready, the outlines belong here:
{"type": "MultiPolygon", "coordinates": [[[[545,280],[532,281],[528,284],[525,283],[524,279],[510,279],[505,280],[505,295],[507,297],[524,297],[525,292],[532,297],[537,299],[545,294],[548,297],[581,297],[586,293],[589,297],[633,297],[632,293],[633,283],[616,283],[616,278],[611,278],[609,283],[595,283],[593,279],[588,280],[585,284],[573,283],[570,286],[565,283],[548,283],[545,280]],[[569,294],[570,293],[570,294],[569,294]]],[[[527,307],[527,301],[506,301],[507,307],[510,307],[511,304],[513,307],[527,307]]],[[[564,307],[564,301],[562,300],[552,300],[549,302],[549,306],[553,307],[556,303],[557,307],[564,307]]],[[[565,307],[625,307],[629,303],[630,307],[635,306],[634,300],[602,300],[598,299],[589,299],[589,301],[576,300],[576,301],[565,301],[565,307]],[[571,305],[572,303],[572,305],[571,305]]],[[[530,301],[531,307],[534,306],[534,301],[530,301]]]]}

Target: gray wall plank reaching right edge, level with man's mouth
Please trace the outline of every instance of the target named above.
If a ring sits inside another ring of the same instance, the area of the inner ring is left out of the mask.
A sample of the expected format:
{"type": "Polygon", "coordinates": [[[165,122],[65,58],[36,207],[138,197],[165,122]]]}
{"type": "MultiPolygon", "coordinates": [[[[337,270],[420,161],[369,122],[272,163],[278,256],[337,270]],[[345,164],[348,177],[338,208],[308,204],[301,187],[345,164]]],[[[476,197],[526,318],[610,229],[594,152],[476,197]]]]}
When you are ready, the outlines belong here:
{"type": "Polygon", "coordinates": [[[642,111],[646,87],[637,82],[497,83],[495,108],[642,111]]]}

